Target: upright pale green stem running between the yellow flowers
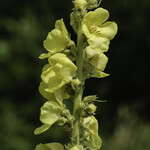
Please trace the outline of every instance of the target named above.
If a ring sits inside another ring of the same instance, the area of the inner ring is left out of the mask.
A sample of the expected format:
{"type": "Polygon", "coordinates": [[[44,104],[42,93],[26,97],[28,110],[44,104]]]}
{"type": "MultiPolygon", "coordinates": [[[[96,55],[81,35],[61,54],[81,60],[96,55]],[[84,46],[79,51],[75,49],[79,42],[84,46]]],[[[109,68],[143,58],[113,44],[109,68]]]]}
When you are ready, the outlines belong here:
{"type": "Polygon", "coordinates": [[[81,32],[81,23],[78,25],[78,38],[77,38],[77,58],[76,58],[76,66],[77,66],[77,77],[81,82],[79,89],[75,92],[74,97],[74,109],[73,109],[73,116],[75,118],[72,137],[73,142],[77,146],[79,145],[80,141],[80,115],[79,115],[79,108],[82,101],[82,93],[83,93],[83,38],[81,32]]]}

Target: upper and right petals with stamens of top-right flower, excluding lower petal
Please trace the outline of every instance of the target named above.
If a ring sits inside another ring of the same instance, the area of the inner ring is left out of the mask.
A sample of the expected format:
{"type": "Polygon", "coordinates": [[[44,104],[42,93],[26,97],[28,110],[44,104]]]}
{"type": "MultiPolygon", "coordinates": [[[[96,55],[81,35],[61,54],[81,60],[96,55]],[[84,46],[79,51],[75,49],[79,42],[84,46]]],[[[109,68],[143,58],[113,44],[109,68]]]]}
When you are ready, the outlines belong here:
{"type": "Polygon", "coordinates": [[[82,21],[82,30],[87,38],[91,36],[113,39],[117,33],[115,22],[105,22],[109,18],[109,12],[103,8],[87,13],[82,21]]]}

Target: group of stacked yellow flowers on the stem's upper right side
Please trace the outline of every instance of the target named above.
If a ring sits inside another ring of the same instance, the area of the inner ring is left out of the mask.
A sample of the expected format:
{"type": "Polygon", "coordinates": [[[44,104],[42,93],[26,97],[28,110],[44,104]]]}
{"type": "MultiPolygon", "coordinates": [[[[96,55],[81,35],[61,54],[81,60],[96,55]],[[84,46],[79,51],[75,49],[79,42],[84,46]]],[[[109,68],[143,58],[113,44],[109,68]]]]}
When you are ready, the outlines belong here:
{"type": "Polygon", "coordinates": [[[107,21],[109,12],[103,8],[87,13],[82,20],[82,31],[87,38],[88,46],[85,48],[85,55],[94,67],[93,77],[106,77],[104,69],[108,62],[104,52],[109,49],[110,40],[117,33],[117,24],[107,21]]]}

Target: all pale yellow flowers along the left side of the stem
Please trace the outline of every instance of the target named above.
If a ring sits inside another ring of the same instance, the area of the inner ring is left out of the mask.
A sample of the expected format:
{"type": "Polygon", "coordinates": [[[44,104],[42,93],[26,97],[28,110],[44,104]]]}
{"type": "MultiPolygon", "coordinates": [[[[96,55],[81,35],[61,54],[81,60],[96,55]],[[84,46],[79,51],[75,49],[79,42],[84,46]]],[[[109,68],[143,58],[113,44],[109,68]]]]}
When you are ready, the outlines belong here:
{"type": "MultiPolygon", "coordinates": [[[[41,107],[40,121],[43,125],[36,128],[34,131],[36,135],[45,132],[55,123],[62,126],[73,120],[63,100],[70,97],[67,86],[71,85],[77,70],[69,58],[71,56],[73,58],[71,51],[75,48],[75,44],[70,39],[62,19],[56,21],[55,29],[48,33],[44,47],[48,53],[41,54],[39,58],[48,58],[48,64],[43,67],[39,91],[47,101],[41,107]]],[[[39,144],[36,150],[52,149],[51,147],[63,150],[63,146],[59,143],[39,144]]]]}

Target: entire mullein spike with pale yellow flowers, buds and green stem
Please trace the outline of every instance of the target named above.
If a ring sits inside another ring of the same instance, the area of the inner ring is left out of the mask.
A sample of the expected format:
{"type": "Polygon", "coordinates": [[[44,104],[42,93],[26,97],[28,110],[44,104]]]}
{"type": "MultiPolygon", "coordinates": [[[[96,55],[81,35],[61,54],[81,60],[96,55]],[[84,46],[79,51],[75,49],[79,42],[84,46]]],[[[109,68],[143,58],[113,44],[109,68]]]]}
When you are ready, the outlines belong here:
{"type": "Polygon", "coordinates": [[[102,140],[98,134],[98,121],[94,117],[96,95],[83,98],[86,79],[104,78],[110,40],[117,33],[117,24],[107,21],[109,12],[99,0],[74,0],[70,25],[77,34],[77,43],[71,40],[63,19],[57,20],[55,29],[44,41],[47,53],[40,59],[48,59],[43,67],[40,94],[46,99],[41,107],[42,126],[34,134],[41,134],[52,125],[63,127],[70,134],[70,143],[38,144],[35,150],[99,150],[102,140]],[[96,9],[95,9],[96,8],[96,9]],[[95,9],[95,10],[94,10],[95,9]],[[92,11],[90,11],[92,10],[92,11]],[[64,100],[72,101],[73,110],[64,100]]]}

